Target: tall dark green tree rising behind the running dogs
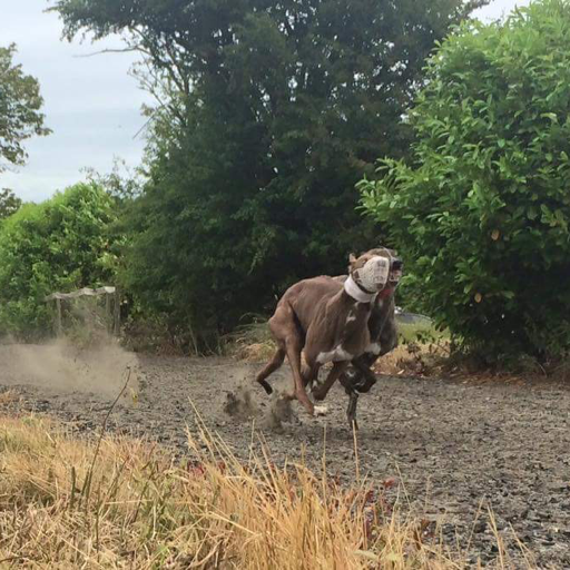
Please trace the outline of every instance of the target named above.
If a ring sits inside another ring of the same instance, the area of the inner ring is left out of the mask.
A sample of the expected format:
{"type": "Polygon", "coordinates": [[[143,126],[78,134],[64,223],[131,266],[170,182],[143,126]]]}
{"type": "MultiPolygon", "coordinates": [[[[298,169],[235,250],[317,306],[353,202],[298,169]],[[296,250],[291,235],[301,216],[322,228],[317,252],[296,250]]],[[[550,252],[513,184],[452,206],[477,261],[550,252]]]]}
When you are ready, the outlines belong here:
{"type": "Polygon", "coordinates": [[[400,116],[426,55],[482,3],[58,1],[69,37],[126,35],[159,100],[131,286],[205,333],[296,278],[344,272],[377,238],[355,183],[406,153],[400,116]]]}

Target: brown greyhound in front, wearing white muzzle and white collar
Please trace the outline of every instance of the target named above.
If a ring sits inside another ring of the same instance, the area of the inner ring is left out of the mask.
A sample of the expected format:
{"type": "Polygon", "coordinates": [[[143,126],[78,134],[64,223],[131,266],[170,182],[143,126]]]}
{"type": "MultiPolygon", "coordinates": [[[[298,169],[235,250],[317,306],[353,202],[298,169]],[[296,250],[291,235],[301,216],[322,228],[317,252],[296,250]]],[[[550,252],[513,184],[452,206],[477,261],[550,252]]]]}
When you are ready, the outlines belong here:
{"type": "Polygon", "coordinates": [[[358,258],[351,254],[344,283],[321,276],[304,279],[285,292],[269,320],[277,351],[256,376],[267,394],[273,389],[266,379],[287,356],[294,381],[288,397],[296,397],[314,414],[305,386],[317,377],[323,364],[332,362],[325,382],[313,390],[315,400],[324,400],[350,362],[370,348],[368,318],[374,299],[390,281],[391,263],[391,253],[384,248],[371,249],[358,258]],[[302,373],[303,351],[306,366],[302,373]]]}

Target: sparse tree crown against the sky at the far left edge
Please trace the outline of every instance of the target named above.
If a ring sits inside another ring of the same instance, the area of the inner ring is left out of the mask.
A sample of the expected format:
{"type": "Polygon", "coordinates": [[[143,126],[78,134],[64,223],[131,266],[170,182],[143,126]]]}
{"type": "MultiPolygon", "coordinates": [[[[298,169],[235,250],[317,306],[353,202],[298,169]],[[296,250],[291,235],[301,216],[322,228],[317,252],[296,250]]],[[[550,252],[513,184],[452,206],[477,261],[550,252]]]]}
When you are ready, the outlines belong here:
{"type": "Polygon", "coordinates": [[[0,47],[0,173],[7,164],[22,165],[22,142],[33,135],[48,135],[40,112],[43,99],[38,81],[13,63],[16,46],[0,47]]]}

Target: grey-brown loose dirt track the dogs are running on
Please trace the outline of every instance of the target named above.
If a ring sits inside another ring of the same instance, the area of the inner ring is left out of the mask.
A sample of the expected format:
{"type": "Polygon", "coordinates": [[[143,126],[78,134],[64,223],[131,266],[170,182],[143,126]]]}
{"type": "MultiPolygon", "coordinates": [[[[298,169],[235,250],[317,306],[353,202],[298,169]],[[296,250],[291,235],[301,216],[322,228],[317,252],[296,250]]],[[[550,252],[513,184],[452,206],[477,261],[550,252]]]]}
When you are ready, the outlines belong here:
{"type": "MultiPolygon", "coordinates": [[[[7,366],[9,358],[13,361],[0,347],[0,392],[10,387],[22,401],[4,404],[6,409],[48,412],[80,430],[100,426],[112,400],[108,381],[105,390],[92,386],[92,392],[85,383],[73,391],[56,380],[48,387],[45,379],[40,383],[29,371],[7,366]]],[[[250,385],[258,366],[224,358],[142,357],[137,368],[137,402],[122,400],[110,417],[111,430],[155,438],[184,453],[186,425],[195,425],[191,399],[206,423],[236,454],[247,456],[252,422],[238,413],[247,400],[239,386],[250,385]]],[[[119,376],[111,382],[115,393],[120,390],[119,376]]],[[[274,384],[283,387],[284,382],[285,367],[274,384]]],[[[294,403],[293,417],[282,428],[272,421],[273,404],[263,391],[254,387],[249,395],[246,412],[255,416],[274,461],[298,460],[304,446],[306,460],[320,464],[326,425],[328,471],[343,480],[354,478],[353,435],[340,389],[327,399],[326,416],[309,417],[294,403]]],[[[361,397],[361,472],[379,482],[397,478],[410,507],[443,523],[450,546],[456,537],[465,546],[472,535],[472,561],[494,554],[487,517],[476,520],[480,508],[491,507],[501,534],[509,540],[512,525],[534,552],[538,567],[569,568],[569,412],[570,390],[551,383],[475,385],[382,377],[371,394],[361,397]]]]}

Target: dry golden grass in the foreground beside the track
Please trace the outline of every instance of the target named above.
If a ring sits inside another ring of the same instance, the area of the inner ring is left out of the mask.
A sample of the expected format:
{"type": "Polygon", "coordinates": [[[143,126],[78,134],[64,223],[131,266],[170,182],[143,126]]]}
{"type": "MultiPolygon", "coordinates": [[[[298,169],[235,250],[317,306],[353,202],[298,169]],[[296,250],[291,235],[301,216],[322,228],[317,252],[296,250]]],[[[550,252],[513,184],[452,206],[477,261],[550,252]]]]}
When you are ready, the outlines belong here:
{"type": "Polygon", "coordinates": [[[463,567],[382,487],[244,465],[205,432],[185,464],[141,441],[99,443],[0,417],[0,568],[463,567]]]}

